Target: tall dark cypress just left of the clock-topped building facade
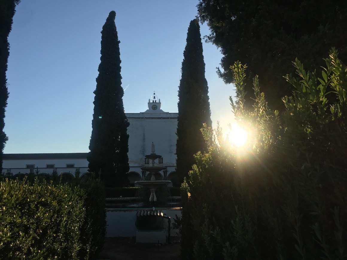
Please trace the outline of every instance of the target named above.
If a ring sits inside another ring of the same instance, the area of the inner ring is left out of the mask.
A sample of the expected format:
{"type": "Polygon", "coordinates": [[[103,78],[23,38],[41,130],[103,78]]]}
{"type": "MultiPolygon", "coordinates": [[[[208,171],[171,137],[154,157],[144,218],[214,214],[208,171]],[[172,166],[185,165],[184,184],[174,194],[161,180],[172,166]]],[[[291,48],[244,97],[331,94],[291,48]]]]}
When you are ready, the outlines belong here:
{"type": "Polygon", "coordinates": [[[89,171],[98,174],[108,187],[122,187],[129,171],[127,127],[120,75],[120,51],[116,12],[111,11],[101,31],[101,62],[94,91],[92,136],[88,154],[89,171]]]}

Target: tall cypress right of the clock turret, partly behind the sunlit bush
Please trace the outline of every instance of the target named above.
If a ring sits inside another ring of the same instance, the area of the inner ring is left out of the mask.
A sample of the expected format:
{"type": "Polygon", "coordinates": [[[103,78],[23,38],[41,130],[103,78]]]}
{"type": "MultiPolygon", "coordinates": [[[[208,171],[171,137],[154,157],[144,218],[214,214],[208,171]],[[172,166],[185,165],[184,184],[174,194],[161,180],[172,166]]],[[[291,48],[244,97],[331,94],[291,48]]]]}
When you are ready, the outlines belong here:
{"type": "Polygon", "coordinates": [[[183,56],[182,76],[178,87],[176,143],[176,169],[180,182],[183,182],[183,178],[188,176],[188,171],[192,169],[195,163],[194,154],[207,147],[200,131],[203,123],[208,127],[212,125],[200,26],[197,20],[192,20],[189,24],[183,56]]]}

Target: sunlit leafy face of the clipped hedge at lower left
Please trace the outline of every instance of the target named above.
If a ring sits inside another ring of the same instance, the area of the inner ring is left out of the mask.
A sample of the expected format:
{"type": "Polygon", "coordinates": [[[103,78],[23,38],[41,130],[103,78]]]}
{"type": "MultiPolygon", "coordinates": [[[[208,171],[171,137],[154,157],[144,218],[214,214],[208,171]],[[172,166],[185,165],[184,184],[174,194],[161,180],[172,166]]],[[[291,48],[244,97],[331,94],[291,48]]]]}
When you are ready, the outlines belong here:
{"type": "Polygon", "coordinates": [[[0,182],[0,197],[2,259],[78,259],[82,189],[7,179],[0,182]]]}

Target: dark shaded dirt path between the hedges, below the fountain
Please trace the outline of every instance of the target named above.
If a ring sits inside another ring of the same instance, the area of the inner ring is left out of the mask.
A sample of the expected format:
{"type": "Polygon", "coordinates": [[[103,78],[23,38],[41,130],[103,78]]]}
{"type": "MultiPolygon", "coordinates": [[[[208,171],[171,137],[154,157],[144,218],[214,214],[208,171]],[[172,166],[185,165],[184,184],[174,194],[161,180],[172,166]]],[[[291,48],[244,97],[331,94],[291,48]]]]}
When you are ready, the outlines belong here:
{"type": "Polygon", "coordinates": [[[179,237],[171,237],[170,244],[136,243],[135,237],[107,237],[98,260],[179,260],[181,245],[179,237]]]}

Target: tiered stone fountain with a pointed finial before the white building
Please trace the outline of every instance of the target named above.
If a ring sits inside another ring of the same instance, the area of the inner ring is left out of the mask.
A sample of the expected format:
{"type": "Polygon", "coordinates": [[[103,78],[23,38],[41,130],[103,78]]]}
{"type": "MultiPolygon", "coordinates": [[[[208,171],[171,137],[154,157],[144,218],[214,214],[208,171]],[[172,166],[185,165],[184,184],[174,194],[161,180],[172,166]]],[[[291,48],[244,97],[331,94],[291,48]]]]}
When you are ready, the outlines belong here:
{"type": "Polygon", "coordinates": [[[154,161],[158,158],[161,158],[161,155],[157,155],[155,153],[155,147],[154,147],[154,144],[152,142],[152,149],[151,149],[151,154],[149,155],[145,155],[146,158],[152,160],[152,166],[144,166],[144,167],[141,167],[141,170],[144,170],[144,171],[147,171],[149,172],[150,174],[152,174],[152,177],[151,177],[151,180],[150,181],[136,181],[135,184],[138,184],[138,185],[142,185],[144,187],[147,187],[150,189],[151,191],[151,196],[150,196],[150,199],[149,201],[151,203],[155,202],[156,201],[156,196],[155,196],[155,191],[158,187],[160,187],[161,185],[167,185],[169,183],[171,183],[171,181],[156,181],[155,180],[155,173],[156,172],[159,172],[161,170],[164,170],[166,169],[165,166],[155,166],[154,164],[154,161]]]}

